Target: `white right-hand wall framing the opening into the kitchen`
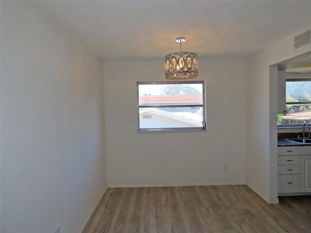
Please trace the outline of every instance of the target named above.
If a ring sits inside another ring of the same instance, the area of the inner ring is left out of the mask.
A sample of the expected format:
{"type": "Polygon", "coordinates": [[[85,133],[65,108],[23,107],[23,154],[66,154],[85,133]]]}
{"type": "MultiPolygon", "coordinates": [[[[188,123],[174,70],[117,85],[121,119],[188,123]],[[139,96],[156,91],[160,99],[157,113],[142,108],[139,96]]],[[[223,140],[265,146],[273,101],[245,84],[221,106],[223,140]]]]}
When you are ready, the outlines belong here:
{"type": "Polygon", "coordinates": [[[294,50],[293,36],[254,54],[247,63],[246,183],[270,203],[278,201],[277,70],[270,66],[311,50],[311,46],[294,50]]]}

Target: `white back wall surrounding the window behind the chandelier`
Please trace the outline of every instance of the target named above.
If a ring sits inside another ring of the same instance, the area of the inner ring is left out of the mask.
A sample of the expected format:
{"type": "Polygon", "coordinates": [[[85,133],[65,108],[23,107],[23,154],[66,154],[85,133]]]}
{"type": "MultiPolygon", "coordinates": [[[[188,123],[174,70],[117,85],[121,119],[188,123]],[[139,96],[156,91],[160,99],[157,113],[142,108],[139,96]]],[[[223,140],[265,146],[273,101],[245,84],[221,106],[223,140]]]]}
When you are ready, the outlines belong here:
{"type": "Polygon", "coordinates": [[[108,185],[245,183],[245,63],[200,59],[207,131],[138,133],[136,82],[165,80],[163,61],[104,62],[108,185]]]}

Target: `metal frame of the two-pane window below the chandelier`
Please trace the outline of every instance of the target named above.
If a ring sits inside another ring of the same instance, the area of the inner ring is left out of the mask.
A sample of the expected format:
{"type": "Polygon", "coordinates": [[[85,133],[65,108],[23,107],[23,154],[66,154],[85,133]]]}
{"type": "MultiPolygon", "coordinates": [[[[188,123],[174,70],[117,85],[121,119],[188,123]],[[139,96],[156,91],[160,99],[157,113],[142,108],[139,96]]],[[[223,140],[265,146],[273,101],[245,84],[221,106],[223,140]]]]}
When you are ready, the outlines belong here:
{"type": "Polygon", "coordinates": [[[206,95],[205,95],[205,81],[155,81],[155,82],[137,82],[137,131],[138,132],[165,132],[165,131],[206,131],[206,95]],[[139,90],[138,86],[141,84],[202,84],[202,104],[188,104],[188,105],[139,105],[139,90]],[[162,108],[162,107],[202,107],[203,108],[203,121],[202,127],[183,127],[183,128],[144,128],[139,127],[139,108],[162,108]]]}

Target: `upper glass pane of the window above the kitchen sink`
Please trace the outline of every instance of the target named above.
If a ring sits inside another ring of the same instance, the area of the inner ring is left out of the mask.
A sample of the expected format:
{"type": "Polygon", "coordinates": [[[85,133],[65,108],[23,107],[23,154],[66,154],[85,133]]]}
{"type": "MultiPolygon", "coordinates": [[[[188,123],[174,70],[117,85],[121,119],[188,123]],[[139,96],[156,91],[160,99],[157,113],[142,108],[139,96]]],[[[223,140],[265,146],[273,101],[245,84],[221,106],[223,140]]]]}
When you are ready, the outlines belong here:
{"type": "Polygon", "coordinates": [[[311,101],[311,81],[287,81],[286,102],[311,101]]]}

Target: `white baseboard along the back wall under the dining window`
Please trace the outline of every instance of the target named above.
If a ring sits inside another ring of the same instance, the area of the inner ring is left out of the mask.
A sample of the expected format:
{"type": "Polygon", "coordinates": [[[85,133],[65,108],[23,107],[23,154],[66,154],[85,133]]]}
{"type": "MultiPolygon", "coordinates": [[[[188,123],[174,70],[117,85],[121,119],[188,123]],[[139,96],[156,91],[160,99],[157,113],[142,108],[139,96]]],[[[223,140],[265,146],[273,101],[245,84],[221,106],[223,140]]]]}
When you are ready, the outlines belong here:
{"type": "Polygon", "coordinates": [[[159,183],[108,183],[109,188],[132,187],[175,187],[175,186],[206,186],[206,185],[234,185],[246,184],[245,181],[186,181],[186,182],[159,182],[159,183]]]}

